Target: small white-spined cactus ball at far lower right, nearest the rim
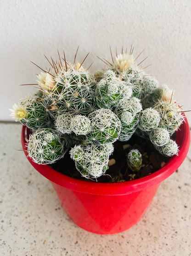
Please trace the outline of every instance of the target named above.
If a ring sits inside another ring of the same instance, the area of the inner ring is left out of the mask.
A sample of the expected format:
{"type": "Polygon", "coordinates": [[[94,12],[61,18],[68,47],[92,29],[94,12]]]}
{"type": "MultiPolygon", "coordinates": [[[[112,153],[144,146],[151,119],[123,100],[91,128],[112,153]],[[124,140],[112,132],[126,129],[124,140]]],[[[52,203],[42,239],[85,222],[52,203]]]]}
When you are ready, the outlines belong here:
{"type": "Polygon", "coordinates": [[[179,147],[174,140],[169,140],[169,142],[163,146],[156,146],[159,153],[165,156],[178,155],[179,147]]]}

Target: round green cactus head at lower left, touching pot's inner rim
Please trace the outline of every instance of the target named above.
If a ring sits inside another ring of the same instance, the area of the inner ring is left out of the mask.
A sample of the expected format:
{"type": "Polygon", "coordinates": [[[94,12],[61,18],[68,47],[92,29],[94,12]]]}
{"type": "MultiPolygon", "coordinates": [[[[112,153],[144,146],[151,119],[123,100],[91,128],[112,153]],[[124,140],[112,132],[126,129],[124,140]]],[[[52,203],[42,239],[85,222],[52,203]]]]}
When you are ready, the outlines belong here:
{"type": "Polygon", "coordinates": [[[61,159],[67,151],[67,140],[51,129],[39,129],[28,141],[28,156],[38,164],[51,164],[61,159]]]}

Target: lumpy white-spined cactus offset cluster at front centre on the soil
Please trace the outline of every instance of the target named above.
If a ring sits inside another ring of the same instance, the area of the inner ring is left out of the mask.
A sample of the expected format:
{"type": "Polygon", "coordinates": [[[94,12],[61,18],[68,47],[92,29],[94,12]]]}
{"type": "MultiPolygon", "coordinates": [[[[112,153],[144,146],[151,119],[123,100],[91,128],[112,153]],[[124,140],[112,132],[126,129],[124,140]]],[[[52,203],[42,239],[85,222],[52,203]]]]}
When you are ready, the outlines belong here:
{"type": "Polygon", "coordinates": [[[106,172],[109,155],[112,151],[112,143],[107,143],[104,146],[89,144],[83,147],[76,145],[70,150],[70,155],[83,177],[98,178],[106,172]]]}

